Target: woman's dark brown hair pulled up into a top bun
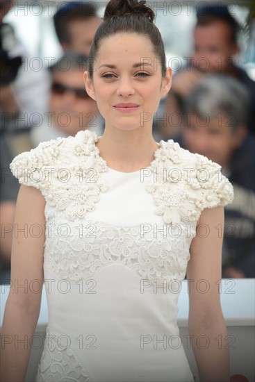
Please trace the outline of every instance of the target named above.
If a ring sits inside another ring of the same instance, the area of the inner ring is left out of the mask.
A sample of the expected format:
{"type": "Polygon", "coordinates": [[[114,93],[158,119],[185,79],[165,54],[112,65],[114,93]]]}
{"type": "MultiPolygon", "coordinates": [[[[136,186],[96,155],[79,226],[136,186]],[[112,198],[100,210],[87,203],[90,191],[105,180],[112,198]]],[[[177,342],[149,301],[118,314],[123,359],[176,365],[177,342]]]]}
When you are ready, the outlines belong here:
{"type": "Polygon", "coordinates": [[[90,49],[88,74],[93,76],[94,62],[100,42],[104,38],[116,33],[138,33],[151,40],[154,53],[161,62],[162,75],[165,76],[165,49],[161,33],[154,24],[154,11],[146,5],[146,1],[138,0],[110,0],[104,12],[104,22],[97,28],[90,49]]]}

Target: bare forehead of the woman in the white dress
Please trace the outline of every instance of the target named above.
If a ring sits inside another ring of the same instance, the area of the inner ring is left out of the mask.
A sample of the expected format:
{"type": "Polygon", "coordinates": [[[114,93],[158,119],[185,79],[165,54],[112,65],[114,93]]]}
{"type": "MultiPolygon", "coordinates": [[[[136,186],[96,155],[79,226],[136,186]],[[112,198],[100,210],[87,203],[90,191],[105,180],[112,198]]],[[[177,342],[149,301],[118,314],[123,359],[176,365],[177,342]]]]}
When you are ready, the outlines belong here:
{"type": "Polygon", "coordinates": [[[103,61],[120,66],[134,62],[150,62],[153,65],[155,58],[153,46],[146,35],[117,33],[101,40],[97,65],[103,61]]]}

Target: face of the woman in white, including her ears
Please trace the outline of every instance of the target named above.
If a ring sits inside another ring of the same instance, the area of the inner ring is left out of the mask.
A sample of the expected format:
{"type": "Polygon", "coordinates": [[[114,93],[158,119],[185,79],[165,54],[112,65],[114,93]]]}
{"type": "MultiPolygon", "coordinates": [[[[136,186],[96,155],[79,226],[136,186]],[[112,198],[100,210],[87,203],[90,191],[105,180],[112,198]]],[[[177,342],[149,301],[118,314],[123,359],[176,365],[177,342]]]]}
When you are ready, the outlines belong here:
{"type": "Polygon", "coordinates": [[[93,79],[84,74],[90,97],[109,126],[124,131],[152,126],[158,104],[171,87],[172,72],[162,77],[149,38],[118,33],[101,41],[93,79]]]}

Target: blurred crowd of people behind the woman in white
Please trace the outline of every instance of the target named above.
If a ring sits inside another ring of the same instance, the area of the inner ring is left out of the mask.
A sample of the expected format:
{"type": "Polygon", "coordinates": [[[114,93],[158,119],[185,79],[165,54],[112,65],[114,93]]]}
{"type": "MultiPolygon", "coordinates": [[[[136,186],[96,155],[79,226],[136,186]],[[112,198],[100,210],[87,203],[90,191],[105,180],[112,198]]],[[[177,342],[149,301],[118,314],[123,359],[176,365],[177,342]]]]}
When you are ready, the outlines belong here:
{"type": "MultiPolygon", "coordinates": [[[[47,69],[23,65],[28,57],[4,22],[12,1],[0,3],[1,281],[10,279],[10,253],[19,183],[10,161],[40,142],[104,132],[104,119],[85,91],[83,72],[101,23],[95,3],[72,1],[54,15],[63,56],[47,69]],[[3,6],[4,5],[4,6],[3,6]]],[[[222,277],[255,277],[254,81],[238,67],[240,25],[227,6],[199,7],[190,61],[173,76],[172,89],[154,115],[154,138],[173,139],[222,166],[234,188],[225,207],[222,277]]]]}

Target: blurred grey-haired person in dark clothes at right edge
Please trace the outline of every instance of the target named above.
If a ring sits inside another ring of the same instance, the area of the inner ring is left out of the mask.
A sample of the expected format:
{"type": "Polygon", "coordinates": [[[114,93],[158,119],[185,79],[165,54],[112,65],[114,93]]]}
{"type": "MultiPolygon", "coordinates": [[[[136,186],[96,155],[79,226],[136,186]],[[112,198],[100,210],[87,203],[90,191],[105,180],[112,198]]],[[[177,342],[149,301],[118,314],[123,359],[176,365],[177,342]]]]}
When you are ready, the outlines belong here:
{"type": "MultiPolygon", "coordinates": [[[[225,208],[222,276],[255,277],[255,140],[247,128],[249,95],[240,81],[204,76],[185,103],[181,145],[222,166],[234,188],[225,208]]],[[[220,181],[220,179],[219,179],[220,181]]],[[[215,227],[222,234],[222,227],[215,227]]]]}

